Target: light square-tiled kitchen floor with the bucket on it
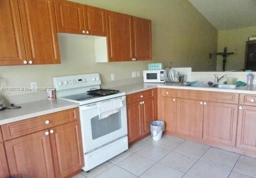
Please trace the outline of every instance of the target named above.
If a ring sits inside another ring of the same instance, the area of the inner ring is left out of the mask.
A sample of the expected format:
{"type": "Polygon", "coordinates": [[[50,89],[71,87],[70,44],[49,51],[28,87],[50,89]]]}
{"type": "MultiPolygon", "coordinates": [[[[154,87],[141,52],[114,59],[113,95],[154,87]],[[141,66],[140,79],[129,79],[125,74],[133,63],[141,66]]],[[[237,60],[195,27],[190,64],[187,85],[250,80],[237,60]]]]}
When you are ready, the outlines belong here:
{"type": "Polygon", "coordinates": [[[256,178],[256,159],[164,135],[150,136],[73,178],[256,178]]]}

